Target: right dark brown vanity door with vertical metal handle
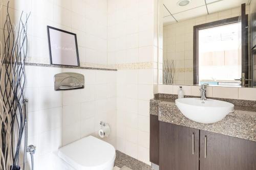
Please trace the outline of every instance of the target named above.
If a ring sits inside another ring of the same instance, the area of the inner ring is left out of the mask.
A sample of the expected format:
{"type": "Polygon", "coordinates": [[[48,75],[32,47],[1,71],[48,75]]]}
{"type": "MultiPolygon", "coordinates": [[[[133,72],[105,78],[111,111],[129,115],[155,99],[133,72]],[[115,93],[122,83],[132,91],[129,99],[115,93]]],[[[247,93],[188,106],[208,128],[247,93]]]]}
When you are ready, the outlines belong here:
{"type": "Polygon", "coordinates": [[[255,170],[256,142],[200,131],[201,170],[255,170]]]}

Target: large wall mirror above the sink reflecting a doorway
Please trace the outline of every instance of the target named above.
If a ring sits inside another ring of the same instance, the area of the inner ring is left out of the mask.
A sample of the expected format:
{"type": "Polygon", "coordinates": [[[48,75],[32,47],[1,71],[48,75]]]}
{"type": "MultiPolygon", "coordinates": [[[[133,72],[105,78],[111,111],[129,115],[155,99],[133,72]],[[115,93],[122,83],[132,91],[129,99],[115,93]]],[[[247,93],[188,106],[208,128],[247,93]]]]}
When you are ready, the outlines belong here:
{"type": "Polygon", "coordinates": [[[254,2],[160,1],[160,84],[256,86],[254,2]]]}

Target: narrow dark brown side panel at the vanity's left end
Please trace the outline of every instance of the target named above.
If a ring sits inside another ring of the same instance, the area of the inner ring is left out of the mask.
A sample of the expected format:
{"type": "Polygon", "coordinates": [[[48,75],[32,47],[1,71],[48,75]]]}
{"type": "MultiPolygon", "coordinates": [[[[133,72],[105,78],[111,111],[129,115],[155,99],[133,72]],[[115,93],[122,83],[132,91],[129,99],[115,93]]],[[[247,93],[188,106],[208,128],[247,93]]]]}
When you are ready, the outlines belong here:
{"type": "Polygon", "coordinates": [[[150,115],[150,161],[159,165],[159,121],[156,115],[150,115]]]}

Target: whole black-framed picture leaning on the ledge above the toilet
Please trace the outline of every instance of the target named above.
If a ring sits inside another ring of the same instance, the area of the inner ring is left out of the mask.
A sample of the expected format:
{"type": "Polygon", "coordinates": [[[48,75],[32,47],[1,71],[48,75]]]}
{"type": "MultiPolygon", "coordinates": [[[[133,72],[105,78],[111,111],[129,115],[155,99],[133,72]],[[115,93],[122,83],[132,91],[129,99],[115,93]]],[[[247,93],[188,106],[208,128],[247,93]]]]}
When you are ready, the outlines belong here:
{"type": "Polygon", "coordinates": [[[50,26],[47,33],[51,64],[79,66],[76,34],[50,26]]]}

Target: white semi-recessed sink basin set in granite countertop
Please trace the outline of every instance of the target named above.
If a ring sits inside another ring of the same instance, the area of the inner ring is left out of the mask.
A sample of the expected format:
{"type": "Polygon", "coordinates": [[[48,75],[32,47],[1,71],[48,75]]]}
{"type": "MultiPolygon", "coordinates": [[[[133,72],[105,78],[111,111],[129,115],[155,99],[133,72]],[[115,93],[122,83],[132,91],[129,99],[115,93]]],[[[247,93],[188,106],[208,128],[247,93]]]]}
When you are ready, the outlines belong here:
{"type": "Polygon", "coordinates": [[[234,111],[233,104],[212,99],[182,98],[175,104],[188,119],[203,124],[218,122],[234,111]]]}

